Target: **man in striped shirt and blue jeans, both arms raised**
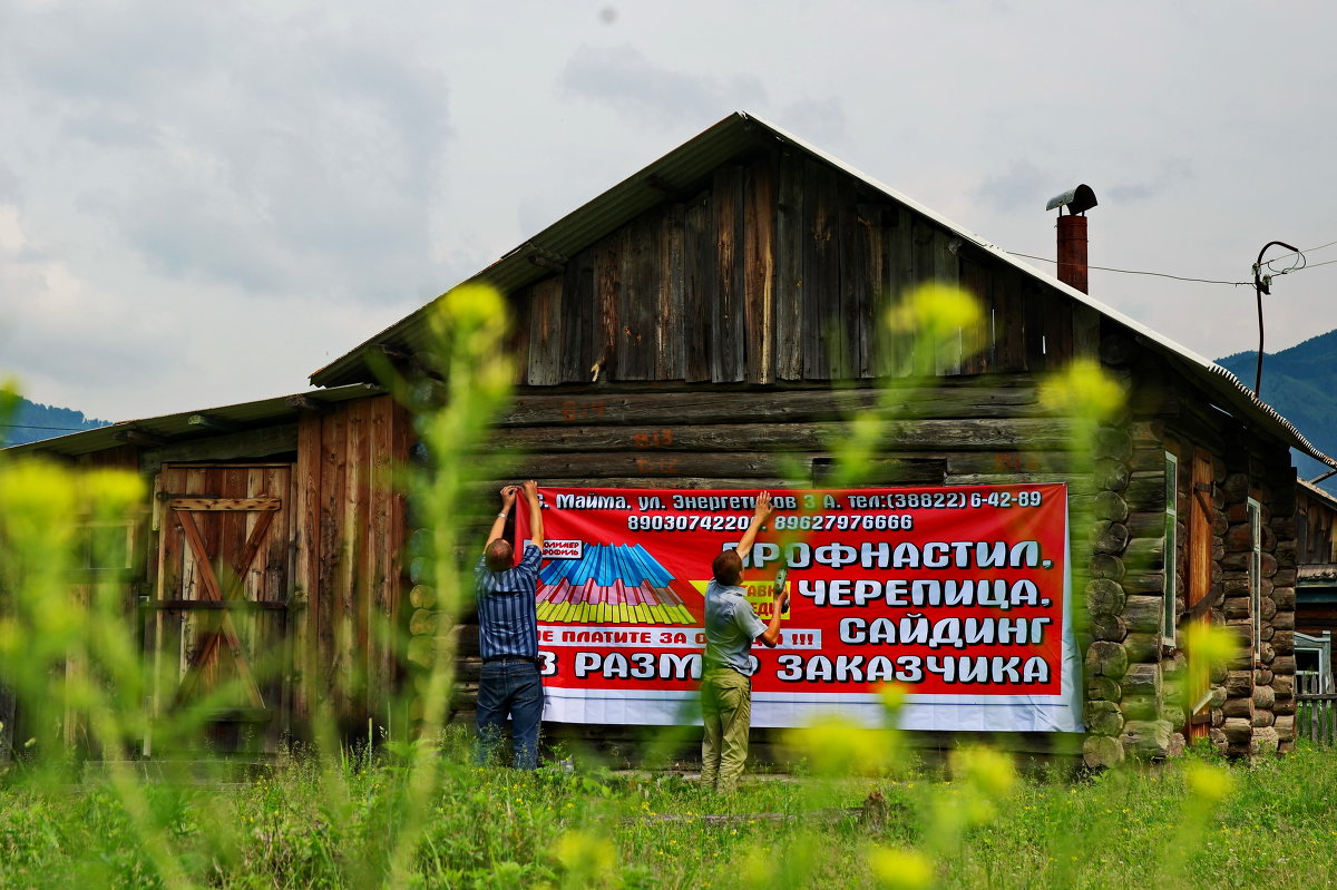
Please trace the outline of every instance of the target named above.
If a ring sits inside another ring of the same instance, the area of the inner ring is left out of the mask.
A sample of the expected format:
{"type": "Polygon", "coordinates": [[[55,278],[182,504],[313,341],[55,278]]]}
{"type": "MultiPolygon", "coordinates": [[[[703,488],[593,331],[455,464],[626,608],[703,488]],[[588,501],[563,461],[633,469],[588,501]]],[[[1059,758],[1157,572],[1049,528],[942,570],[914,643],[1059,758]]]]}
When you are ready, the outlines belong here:
{"type": "Polygon", "coordinates": [[[539,723],[543,718],[543,678],[539,675],[539,564],[543,561],[543,512],[539,484],[501,489],[501,512],[492,521],[488,545],[475,567],[479,607],[479,647],[483,676],[479,680],[479,758],[496,750],[511,719],[515,766],[539,764],[539,723]],[[520,563],[503,537],[505,521],[523,492],[529,508],[529,543],[520,563]]]}

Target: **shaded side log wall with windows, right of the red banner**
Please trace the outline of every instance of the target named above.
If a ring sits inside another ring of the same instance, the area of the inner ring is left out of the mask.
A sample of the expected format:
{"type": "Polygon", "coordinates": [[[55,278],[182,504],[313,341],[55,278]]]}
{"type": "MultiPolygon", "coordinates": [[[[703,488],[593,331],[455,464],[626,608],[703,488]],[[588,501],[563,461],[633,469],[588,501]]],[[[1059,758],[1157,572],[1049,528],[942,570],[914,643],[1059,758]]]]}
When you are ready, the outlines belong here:
{"type": "Polygon", "coordinates": [[[1096,494],[1086,583],[1087,763],[1171,755],[1193,735],[1231,756],[1288,750],[1296,607],[1296,482],[1288,450],[1211,408],[1210,396],[1187,385],[1167,359],[1128,349],[1118,337],[1107,339],[1102,357],[1135,398],[1127,437],[1116,426],[1108,433],[1123,453],[1098,454],[1116,469],[1098,480],[1104,490],[1096,494]],[[1173,480],[1165,474],[1167,452],[1178,457],[1173,480]],[[1167,490],[1177,508],[1173,633],[1165,621],[1167,490]],[[1259,502],[1261,518],[1257,655],[1249,498],[1259,502]],[[1229,628],[1239,647],[1206,691],[1186,686],[1191,655],[1182,647],[1197,620],[1229,628]],[[1190,711],[1203,692],[1210,698],[1195,722],[1190,711]]]}

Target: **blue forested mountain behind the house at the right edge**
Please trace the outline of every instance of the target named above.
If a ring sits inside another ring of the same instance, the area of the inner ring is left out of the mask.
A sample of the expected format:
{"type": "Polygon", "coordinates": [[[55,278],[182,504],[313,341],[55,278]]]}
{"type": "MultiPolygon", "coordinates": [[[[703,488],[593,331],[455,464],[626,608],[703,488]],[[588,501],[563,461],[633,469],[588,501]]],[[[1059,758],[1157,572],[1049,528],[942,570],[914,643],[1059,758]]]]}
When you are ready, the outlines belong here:
{"type": "MultiPolygon", "coordinates": [[[[1258,353],[1235,353],[1217,363],[1253,389],[1258,353]]],[[[1280,353],[1263,353],[1262,401],[1296,425],[1325,454],[1337,457],[1337,330],[1312,337],[1280,353]]],[[[1328,468],[1296,453],[1301,478],[1313,478],[1328,468]]],[[[1337,476],[1322,482],[1337,494],[1337,476]]]]}

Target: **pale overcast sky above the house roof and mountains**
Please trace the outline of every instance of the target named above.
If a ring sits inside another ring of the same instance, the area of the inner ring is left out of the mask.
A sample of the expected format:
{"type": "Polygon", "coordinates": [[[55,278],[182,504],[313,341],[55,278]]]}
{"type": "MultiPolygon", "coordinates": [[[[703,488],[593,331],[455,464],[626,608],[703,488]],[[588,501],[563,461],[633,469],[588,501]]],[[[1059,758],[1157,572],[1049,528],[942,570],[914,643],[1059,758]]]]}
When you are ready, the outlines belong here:
{"type": "MultiPolygon", "coordinates": [[[[0,0],[0,378],[112,421],[305,392],[734,111],[1021,254],[1078,183],[1092,266],[1301,247],[1275,351],[1337,327],[1334,33],[1285,1],[0,0]]],[[[1251,285],[1091,294],[1258,343],[1251,285]]]]}

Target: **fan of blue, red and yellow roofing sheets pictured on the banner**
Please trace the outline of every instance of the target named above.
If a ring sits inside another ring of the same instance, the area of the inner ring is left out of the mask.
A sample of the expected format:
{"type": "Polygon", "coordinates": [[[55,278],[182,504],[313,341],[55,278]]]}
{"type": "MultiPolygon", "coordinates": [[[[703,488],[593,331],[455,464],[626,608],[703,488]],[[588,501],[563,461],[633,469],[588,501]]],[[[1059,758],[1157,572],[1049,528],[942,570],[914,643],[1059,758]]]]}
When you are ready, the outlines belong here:
{"type": "Polygon", "coordinates": [[[579,560],[552,560],[539,573],[539,620],[572,624],[697,624],[668,575],[639,544],[586,544],[579,560]]]}

